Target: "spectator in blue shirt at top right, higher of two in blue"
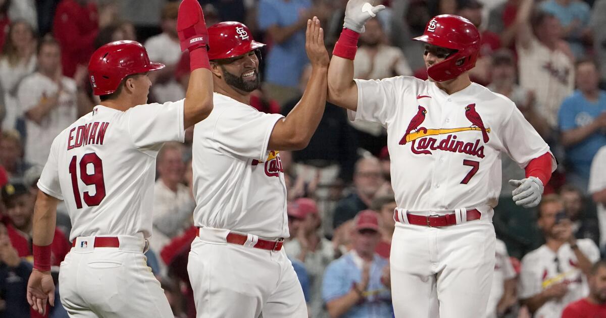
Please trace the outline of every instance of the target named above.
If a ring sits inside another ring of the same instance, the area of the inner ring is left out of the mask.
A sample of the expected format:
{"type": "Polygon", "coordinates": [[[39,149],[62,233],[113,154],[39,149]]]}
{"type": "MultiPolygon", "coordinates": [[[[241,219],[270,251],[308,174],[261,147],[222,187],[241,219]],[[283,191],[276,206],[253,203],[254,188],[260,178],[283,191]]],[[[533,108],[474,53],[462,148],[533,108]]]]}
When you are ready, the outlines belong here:
{"type": "Polygon", "coordinates": [[[589,38],[590,7],[584,1],[547,0],[539,5],[541,10],[558,18],[563,37],[568,42],[574,58],[585,56],[584,40],[589,38]]]}

